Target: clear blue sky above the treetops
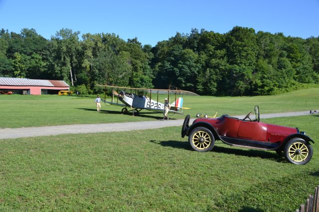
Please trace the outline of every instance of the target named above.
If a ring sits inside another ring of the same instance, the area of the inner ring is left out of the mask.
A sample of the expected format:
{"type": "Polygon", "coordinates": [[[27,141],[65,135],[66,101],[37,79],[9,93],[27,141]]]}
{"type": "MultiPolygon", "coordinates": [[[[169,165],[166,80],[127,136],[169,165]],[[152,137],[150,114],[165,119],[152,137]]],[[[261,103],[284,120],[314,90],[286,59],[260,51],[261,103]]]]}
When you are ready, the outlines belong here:
{"type": "Polygon", "coordinates": [[[226,33],[236,25],[318,37],[319,0],[0,0],[0,28],[34,28],[47,39],[70,28],[155,46],[191,28],[226,33]]]}

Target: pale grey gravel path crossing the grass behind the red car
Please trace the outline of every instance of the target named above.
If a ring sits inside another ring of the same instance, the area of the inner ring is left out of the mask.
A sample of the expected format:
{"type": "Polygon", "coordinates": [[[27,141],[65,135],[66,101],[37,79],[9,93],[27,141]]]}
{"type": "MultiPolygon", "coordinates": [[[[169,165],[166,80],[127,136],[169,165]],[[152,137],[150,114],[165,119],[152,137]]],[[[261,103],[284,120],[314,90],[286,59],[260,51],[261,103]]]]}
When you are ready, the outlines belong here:
{"type": "MultiPolygon", "coordinates": [[[[299,112],[282,112],[261,114],[260,118],[285,117],[296,115],[308,115],[308,111],[299,112]]],[[[234,116],[243,118],[245,115],[234,116]]],[[[192,123],[194,119],[190,119],[192,123]]],[[[139,121],[139,122],[124,122],[124,123],[102,123],[102,124],[72,124],[59,126],[41,126],[41,127],[21,127],[21,128],[2,128],[0,129],[0,139],[47,136],[59,134],[77,134],[77,133],[94,133],[94,132],[115,132],[129,131],[140,129],[155,129],[168,126],[181,126],[183,119],[167,120],[167,121],[139,121]]]]}

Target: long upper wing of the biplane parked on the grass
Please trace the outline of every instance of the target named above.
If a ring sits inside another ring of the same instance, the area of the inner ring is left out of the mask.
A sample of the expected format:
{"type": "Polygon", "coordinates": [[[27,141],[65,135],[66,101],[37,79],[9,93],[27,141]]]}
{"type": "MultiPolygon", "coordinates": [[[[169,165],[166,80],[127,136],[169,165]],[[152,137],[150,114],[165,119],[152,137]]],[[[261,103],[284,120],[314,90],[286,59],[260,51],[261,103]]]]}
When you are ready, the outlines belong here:
{"type": "Polygon", "coordinates": [[[138,93],[138,92],[145,92],[148,94],[176,94],[176,95],[187,95],[187,96],[199,96],[198,94],[195,94],[190,91],[183,91],[183,90],[169,90],[169,89],[145,89],[145,88],[129,88],[129,87],[119,87],[119,86],[107,86],[107,85],[96,85],[105,87],[107,89],[119,89],[123,91],[127,91],[130,93],[138,93]]]}

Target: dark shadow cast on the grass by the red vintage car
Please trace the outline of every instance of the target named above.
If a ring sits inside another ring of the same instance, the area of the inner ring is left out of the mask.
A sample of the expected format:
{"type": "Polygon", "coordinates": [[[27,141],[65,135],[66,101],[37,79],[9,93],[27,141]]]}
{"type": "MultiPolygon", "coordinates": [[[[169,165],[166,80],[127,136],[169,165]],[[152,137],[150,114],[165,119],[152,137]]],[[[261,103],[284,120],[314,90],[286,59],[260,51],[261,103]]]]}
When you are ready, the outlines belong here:
{"type": "MultiPolygon", "coordinates": [[[[178,149],[185,149],[192,151],[193,149],[189,145],[188,142],[184,141],[174,141],[174,140],[168,140],[168,141],[158,141],[158,140],[150,140],[152,143],[160,144],[161,146],[170,146],[173,148],[178,149]]],[[[286,162],[285,158],[282,156],[279,156],[275,153],[275,151],[263,151],[263,150],[255,150],[255,149],[235,149],[231,147],[222,147],[222,146],[214,146],[214,148],[211,150],[212,152],[218,152],[218,153],[225,153],[225,154],[234,154],[234,155],[240,155],[240,156],[247,156],[247,157],[259,157],[262,159],[269,159],[275,162],[286,162]]]]}

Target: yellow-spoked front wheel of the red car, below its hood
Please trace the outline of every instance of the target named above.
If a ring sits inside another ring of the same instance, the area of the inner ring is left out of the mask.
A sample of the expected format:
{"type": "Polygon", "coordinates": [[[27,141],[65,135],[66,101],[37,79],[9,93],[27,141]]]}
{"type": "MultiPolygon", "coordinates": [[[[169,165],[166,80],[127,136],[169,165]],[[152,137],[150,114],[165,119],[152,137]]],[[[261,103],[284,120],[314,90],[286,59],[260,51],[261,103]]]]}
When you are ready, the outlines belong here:
{"type": "Polygon", "coordinates": [[[293,138],[286,144],[285,158],[290,163],[304,165],[312,156],[312,146],[302,138],[293,138]]]}

